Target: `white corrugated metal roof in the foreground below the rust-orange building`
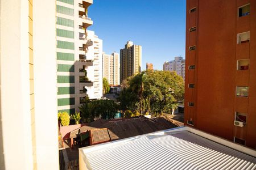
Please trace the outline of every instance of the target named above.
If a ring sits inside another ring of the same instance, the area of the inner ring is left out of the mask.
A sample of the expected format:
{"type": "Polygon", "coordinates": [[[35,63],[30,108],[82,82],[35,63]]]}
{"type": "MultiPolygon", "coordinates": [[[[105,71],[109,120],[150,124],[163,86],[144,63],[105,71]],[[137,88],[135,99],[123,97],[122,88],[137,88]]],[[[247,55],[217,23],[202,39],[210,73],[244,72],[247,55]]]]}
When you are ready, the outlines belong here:
{"type": "Polygon", "coordinates": [[[83,148],[92,169],[256,169],[256,158],[189,131],[83,148]]]}

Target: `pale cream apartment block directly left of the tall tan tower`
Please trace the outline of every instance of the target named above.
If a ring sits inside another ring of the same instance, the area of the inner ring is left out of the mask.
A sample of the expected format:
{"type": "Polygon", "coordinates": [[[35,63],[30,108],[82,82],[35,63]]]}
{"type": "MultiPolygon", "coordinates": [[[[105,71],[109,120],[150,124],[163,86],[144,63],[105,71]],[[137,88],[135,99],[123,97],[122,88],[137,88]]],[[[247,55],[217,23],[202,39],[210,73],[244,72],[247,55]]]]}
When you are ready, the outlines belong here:
{"type": "Polygon", "coordinates": [[[119,54],[103,54],[103,77],[106,78],[110,85],[119,85],[119,54]]]}

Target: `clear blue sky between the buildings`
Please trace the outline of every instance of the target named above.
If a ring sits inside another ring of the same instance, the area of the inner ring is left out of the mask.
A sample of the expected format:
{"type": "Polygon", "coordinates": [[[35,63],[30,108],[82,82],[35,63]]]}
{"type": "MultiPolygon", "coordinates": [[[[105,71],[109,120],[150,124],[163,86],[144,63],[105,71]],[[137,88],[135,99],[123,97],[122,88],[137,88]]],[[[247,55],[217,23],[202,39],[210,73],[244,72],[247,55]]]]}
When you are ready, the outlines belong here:
{"type": "Polygon", "coordinates": [[[141,45],[142,70],[146,62],[162,70],[164,61],[185,58],[185,0],[93,0],[88,16],[107,54],[128,40],[141,45]]]}

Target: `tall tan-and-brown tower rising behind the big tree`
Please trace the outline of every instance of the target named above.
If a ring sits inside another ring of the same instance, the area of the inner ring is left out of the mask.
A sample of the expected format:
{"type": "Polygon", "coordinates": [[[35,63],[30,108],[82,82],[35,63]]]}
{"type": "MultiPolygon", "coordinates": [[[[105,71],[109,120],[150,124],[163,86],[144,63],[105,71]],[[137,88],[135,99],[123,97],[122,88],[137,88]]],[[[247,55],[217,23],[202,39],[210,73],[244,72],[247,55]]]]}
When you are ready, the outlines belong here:
{"type": "Polygon", "coordinates": [[[120,50],[120,82],[129,76],[141,73],[142,46],[127,41],[124,49],[120,50]]]}

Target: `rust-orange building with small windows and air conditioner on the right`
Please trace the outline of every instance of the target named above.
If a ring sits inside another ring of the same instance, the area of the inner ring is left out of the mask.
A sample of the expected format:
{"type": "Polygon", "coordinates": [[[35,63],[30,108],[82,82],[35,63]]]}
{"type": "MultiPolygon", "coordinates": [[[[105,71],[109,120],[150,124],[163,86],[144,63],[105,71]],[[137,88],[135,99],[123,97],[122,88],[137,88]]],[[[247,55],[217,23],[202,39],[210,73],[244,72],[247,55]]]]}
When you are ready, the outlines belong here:
{"type": "Polygon", "coordinates": [[[256,1],[187,1],[185,124],[256,148],[256,1]]]}

